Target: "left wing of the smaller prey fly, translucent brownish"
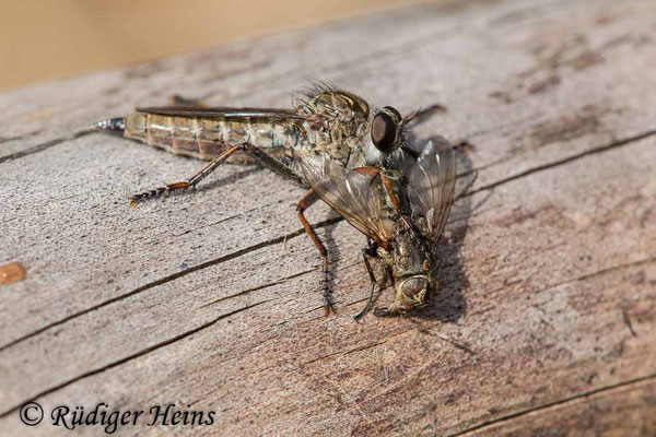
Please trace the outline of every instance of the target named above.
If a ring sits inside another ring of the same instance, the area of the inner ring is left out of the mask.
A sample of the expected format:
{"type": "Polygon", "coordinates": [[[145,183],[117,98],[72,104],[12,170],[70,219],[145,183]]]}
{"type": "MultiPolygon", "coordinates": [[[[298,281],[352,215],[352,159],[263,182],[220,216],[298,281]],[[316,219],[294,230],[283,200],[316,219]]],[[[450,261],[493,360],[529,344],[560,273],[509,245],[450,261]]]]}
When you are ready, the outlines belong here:
{"type": "Polygon", "coordinates": [[[304,157],[301,168],[307,184],[330,208],[358,231],[385,245],[395,231],[378,174],[347,170],[329,156],[304,157]]]}

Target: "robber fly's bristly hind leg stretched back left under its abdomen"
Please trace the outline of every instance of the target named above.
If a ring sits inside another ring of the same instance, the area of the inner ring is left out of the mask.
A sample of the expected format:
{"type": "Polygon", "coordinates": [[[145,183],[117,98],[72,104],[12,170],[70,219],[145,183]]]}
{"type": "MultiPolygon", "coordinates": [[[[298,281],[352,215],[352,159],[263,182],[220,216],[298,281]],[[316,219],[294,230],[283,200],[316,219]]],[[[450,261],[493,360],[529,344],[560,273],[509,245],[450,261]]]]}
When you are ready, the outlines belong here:
{"type": "Polygon", "coordinates": [[[225,162],[225,160],[227,160],[231,155],[235,154],[236,152],[247,153],[250,156],[253,156],[261,167],[267,168],[267,169],[276,173],[277,175],[281,175],[288,179],[292,179],[293,181],[295,181],[298,185],[303,185],[303,182],[301,181],[298,176],[296,176],[292,170],[290,170],[288,167],[285,167],[282,163],[272,158],[271,156],[267,155],[265,152],[262,152],[255,145],[253,145],[250,143],[244,143],[244,144],[235,145],[235,146],[229,149],[227,151],[225,151],[221,156],[214,158],[212,162],[210,162],[210,164],[208,164],[206,167],[203,167],[200,172],[198,172],[196,175],[194,175],[190,179],[168,184],[164,187],[159,187],[159,188],[155,188],[150,191],[144,191],[139,194],[134,194],[134,196],[128,198],[128,202],[130,202],[130,206],[133,208],[133,206],[137,206],[137,204],[143,200],[159,198],[164,194],[169,194],[174,191],[187,190],[189,188],[195,188],[198,185],[198,182],[200,182],[208,175],[210,175],[212,172],[214,172],[216,169],[216,167],[219,167],[221,164],[223,164],[225,162]]]}

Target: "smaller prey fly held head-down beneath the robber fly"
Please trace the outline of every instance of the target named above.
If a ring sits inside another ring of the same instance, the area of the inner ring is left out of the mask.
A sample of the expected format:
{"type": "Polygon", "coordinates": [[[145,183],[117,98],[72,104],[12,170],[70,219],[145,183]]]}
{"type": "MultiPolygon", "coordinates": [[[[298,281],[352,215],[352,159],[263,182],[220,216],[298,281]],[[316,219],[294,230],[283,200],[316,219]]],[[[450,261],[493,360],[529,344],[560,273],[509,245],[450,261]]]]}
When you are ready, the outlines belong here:
{"type": "Polygon", "coordinates": [[[415,161],[402,169],[359,167],[348,169],[329,156],[309,157],[301,165],[312,189],[351,225],[373,240],[363,249],[372,287],[376,279],[367,257],[378,258],[395,286],[390,307],[376,316],[409,312],[436,290],[436,255],[454,199],[456,161],[443,138],[431,139],[415,161]]]}

